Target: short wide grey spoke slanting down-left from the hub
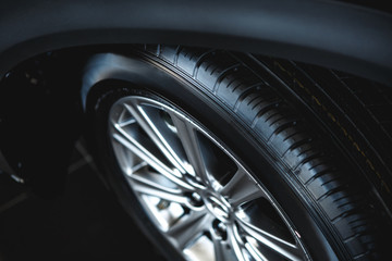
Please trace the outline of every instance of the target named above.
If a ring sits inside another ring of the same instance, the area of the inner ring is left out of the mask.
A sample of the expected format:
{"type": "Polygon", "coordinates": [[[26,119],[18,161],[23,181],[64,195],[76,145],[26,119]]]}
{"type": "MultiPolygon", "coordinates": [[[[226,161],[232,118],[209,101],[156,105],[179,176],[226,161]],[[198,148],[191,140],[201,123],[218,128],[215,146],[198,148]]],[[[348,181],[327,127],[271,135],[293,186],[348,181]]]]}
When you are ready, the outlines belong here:
{"type": "Polygon", "coordinates": [[[212,216],[206,209],[191,211],[169,228],[167,235],[174,238],[180,249],[185,249],[209,229],[212,216]]]}

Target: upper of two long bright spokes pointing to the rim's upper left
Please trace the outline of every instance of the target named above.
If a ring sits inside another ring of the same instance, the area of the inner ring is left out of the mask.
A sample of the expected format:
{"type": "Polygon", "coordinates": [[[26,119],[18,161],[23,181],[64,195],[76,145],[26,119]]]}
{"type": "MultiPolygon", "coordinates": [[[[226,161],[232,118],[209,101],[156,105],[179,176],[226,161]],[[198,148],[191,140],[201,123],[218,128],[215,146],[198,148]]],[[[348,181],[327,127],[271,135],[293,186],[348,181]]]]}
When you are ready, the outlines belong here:
{"type": "MultiPolygon", "coordinates": [[[[138,125],[145,130],[155,145],[162,151],[164,157],[173,164],[173,166],[184,174],[186,171],[183,167],[183,160],[175,152],[175,149],[172,148],[173,141],[167,140],[168,135],[164,135],[159,130],[146,111],[137,103],[127,103],[124,104],[124,107],[135,117],[138,125]]],[[[155,120],[157,121],[158,119],[155,120]]]]}

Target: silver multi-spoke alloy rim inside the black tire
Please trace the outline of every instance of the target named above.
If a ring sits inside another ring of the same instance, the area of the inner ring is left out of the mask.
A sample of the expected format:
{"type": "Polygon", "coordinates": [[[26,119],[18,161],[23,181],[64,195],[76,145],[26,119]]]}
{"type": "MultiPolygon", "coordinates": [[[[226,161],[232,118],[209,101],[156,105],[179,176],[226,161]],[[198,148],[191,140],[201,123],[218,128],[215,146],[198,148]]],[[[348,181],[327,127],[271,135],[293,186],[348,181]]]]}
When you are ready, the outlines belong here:
{"type": "Polygon", "coordinates": [[[118,163],[151,222],[187,260],[307,260],[270,194],[205,127],[140,96],[115,102],[118,163]]]}

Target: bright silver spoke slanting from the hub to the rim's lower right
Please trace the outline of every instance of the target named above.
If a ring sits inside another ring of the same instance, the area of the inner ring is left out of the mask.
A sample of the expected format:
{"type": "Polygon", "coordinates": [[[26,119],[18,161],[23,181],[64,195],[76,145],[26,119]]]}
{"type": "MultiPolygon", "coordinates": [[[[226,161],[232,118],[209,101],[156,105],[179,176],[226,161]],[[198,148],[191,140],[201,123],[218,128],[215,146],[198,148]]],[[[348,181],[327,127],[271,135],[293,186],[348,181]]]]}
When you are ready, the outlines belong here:
{"type": "Polygon", "coordinates": [[[256,239],[260,244],[272,249],[274,252],[281,254],[289,260],[302,260],[301,251],[296,245],[293,245],[278,236],[274,236],[243,219],[237,219],[241,228],[246,235],[256,239]]]}

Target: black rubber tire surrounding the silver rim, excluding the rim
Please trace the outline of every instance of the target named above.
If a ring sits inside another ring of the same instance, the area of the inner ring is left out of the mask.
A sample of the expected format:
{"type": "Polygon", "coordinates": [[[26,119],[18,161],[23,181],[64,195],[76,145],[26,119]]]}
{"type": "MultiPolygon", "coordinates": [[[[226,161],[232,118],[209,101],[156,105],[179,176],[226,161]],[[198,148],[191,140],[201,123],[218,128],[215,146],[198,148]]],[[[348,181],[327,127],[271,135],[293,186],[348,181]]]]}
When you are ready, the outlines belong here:
{"type": "Polygon", "coordinates": [[[384,260],[390,251],[382,235],[391,227],[377,189],[330,129],[272,85],[270,72],[226,51],[184,47],[146,46],[130,59],[149,71],[133,72],[132,83],[108,79],[93,88],[89,140],[125,210],[166,258],[181,260],[126,185],[108,138],[109,110],[124,96],[159,97],[222,140],[273,195],[314,260],[384,260]]]}

